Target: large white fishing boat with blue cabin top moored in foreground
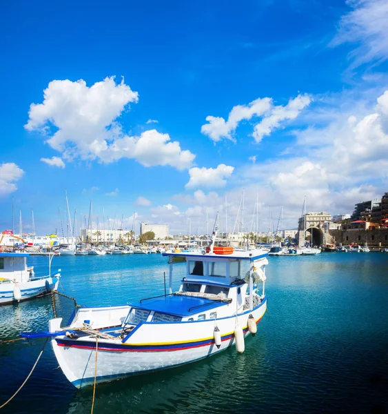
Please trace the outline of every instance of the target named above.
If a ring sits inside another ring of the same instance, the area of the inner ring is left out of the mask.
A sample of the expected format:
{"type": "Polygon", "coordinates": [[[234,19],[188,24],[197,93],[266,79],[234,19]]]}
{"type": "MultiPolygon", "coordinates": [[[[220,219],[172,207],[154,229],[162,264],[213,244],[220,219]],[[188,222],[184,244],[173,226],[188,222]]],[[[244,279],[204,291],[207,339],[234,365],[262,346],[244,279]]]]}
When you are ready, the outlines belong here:
{"type": "Polygon", "coordinates": [[[210,253],[163,254],[170,267],[165,295],[76,308],[68,326],[55,318],[49,332],[21,336],[52,337],[59,366],[76,388],[189,364],[234,345],[242,353],[245,337],[256,334],[267,309],[267,253],[218,248],[223,254],[216,254],[213,246],[210,253]],[[176,257],[185,259],[186,272],[173,293],[176,257]]]}

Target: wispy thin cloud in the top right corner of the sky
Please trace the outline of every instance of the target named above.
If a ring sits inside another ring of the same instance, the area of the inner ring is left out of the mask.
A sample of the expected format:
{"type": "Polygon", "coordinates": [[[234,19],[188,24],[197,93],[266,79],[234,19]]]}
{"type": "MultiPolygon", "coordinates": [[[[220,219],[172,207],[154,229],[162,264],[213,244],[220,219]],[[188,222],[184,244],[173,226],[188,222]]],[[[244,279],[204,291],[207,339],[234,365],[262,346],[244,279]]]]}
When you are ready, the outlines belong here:
{"type": "Polygon", "coordinates": [[[388,3],[386,0],[348,0],[353,9],[340,19],[331,46],[356,43],[350,53],[351,68],[388,58],[388,3]]]}

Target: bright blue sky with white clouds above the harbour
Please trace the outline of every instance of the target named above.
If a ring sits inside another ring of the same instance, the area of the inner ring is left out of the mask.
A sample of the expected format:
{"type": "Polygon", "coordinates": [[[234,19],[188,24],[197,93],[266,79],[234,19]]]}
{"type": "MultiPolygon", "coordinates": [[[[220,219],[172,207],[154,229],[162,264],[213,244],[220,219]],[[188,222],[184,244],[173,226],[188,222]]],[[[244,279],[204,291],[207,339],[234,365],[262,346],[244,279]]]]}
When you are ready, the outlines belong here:
{"type": "Polygon", "coordinates": [[[243,188],[247,228],[257,194],[263,228],[282,204],[294,228],[304,195],[335,214],[387,190],[385,1],[8,1],[0,14],[2,228],[13,198],[25,230],[33,208],[54,231],[65,189],[78,217],[92,198],[100,221],[130,228],[136,210],[173,233],[188,218],[201,233],[225,195],[233,226],[243,188]]]}

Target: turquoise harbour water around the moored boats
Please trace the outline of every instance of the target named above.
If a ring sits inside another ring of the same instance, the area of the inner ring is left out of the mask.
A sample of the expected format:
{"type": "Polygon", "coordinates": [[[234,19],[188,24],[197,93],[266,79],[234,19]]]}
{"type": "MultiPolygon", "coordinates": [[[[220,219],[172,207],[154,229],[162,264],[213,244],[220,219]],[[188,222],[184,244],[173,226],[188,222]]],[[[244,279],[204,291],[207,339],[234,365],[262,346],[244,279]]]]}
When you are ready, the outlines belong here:
{"type": "MultiPolygon", "coordinates": [[[[48,260],[30,257],[37,275],[48,260]]],[[[161,255],[55,257],[67,295],[83,305],[163,294],[161,255]]],[[[176,265],[177,288],[184,265],[176,265]],[[179,268],[180,266],[180,268],[179,268]],[[179,274],[181,273],[181,274],[179,274]]],[[[168,277],[167,277],[168,279],[168,277]]],[[[383,413],[388,409],[388,254],[271,257],[268,313],[245,353],[96,387],[94,413],[383,413]]],[[[46,330],[50,297],[0,307],[0,338],[46,330]]],[[[44,339],[0,344],[0,405],[19,388],[44,339]]],[[[90,413],[51,347],[3,413],[90,413]]]]}

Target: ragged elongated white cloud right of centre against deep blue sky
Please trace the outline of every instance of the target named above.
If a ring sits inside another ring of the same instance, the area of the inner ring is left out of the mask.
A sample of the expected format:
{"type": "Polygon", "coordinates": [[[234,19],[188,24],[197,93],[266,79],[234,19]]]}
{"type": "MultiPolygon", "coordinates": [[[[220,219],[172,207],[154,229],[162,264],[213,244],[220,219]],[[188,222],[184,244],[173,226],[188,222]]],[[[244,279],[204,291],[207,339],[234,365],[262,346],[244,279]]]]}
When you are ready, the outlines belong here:
{"type": "Polygon", "coordinates": [[[271,98],[258,98],[248,105],[234,106],[227,121],[222,117],[206,117],[208,124],[201,127],[201,132],[214,142],[223,138],[236,141],[233,134],[241,121],[261,117],[261,121],[254,125],[252,133],[255,141],[260,142],[265,135],[269,135],[275,128],[280,128],[280,122],[295,119],[310,102],[311,98],[308,95],[298,95],[290,99],[286,106],[274,105],[271,98]]]}

